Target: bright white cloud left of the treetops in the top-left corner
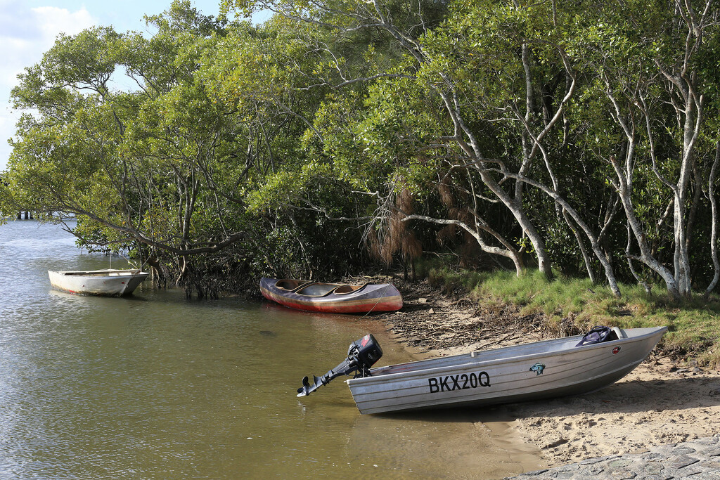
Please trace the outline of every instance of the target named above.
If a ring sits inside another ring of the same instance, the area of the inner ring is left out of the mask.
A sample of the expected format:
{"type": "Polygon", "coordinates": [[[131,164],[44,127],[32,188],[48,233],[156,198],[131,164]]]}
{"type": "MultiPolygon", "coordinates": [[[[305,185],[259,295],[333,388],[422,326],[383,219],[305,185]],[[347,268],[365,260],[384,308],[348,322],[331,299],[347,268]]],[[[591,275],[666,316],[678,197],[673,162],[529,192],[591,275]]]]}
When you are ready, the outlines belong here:
{"type": "Polygon", "coordinates": [[[10,112],[10,91],[24,68],[39,62],[60,33],[75,35],[97,24],[84,7],[76,12],[56,6],[28,8],[23,1],[0,0],[0,172],[4,171],[19,115],[10,112]]]}

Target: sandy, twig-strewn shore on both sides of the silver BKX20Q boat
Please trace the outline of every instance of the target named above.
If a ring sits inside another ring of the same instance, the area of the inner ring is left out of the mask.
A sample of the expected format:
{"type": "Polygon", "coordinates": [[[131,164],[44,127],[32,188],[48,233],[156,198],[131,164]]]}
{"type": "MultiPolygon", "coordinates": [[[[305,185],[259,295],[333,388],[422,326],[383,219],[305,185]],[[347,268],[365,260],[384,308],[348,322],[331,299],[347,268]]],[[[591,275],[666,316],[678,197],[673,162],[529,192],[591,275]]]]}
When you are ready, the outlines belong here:
{"type": "MultiPolygon", "coordinates": [[[[400,290],[402,310],[378,318],[413,358],[551,338],[543,335],[541,315],[521,316],[517,307],[453,298],[426,282],[400,290]]],[[[634,371],[600,391],[500,405],[495,411],[524,448],[539,451],[545,467],[642,453],[720,432],[720,371],[681,365],[653,350],[634,371]]]]}

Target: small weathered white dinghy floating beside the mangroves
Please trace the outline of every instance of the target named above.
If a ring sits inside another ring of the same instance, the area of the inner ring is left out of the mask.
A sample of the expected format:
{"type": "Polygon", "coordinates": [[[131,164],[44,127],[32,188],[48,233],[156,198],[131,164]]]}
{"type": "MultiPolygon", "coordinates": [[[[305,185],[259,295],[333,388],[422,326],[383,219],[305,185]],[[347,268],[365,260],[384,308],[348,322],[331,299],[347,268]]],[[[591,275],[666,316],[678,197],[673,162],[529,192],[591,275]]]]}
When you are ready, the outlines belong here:
{"type": "Polygon", "coordinates": [[[138,270],[48,271],[53,289],[99,296],[130,295],[148,275],[138,270]]]}

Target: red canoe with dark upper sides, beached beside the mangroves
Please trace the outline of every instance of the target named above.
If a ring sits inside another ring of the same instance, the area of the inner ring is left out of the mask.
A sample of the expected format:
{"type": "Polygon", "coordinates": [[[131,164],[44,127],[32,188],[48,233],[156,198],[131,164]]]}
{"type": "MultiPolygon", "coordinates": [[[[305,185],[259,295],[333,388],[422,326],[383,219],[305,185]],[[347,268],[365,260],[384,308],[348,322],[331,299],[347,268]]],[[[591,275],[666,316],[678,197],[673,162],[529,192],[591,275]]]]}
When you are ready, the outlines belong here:
{"type": "Polygon", "coordinates": [[[393,312],[402,296],[392,284],[321,284],[307,280],[261,279],[266,299],[285,307],[328,313],[393,312]]]}

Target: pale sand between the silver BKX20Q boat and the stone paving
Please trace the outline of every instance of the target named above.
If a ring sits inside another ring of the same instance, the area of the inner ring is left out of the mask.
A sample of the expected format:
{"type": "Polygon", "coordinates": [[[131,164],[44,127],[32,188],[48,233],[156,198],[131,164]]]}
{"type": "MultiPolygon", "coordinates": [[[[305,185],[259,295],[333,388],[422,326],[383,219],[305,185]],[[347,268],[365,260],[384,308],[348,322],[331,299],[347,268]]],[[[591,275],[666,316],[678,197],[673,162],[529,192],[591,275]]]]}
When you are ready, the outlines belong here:
{"type": "Polygon", "coordinates": [[[720,373],[650,358],[593,394],[506,408],[548,466],[639,453],[720,432],[720,373]]]}

